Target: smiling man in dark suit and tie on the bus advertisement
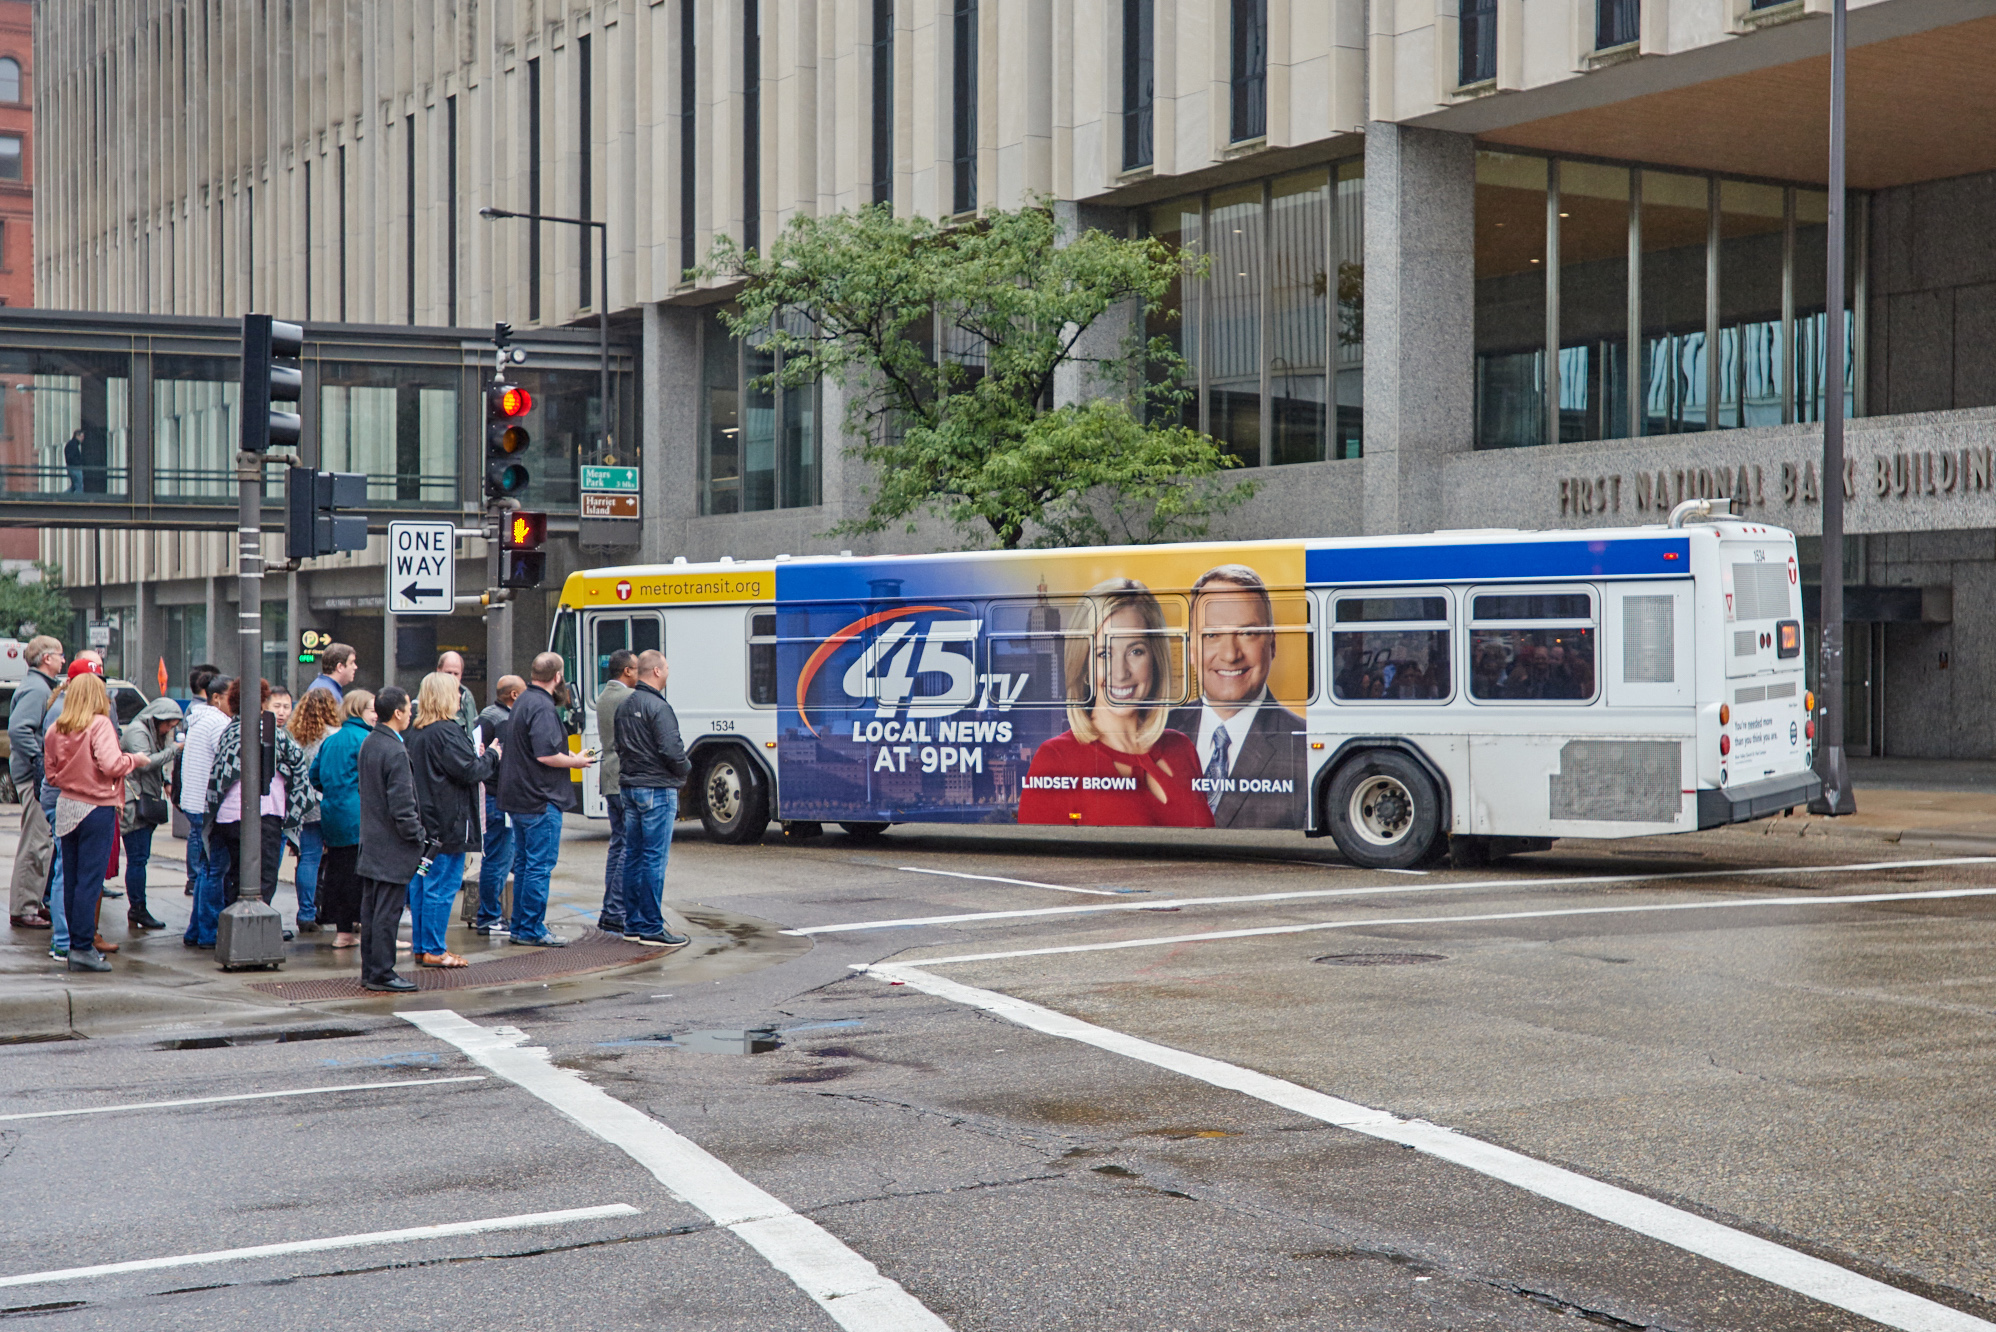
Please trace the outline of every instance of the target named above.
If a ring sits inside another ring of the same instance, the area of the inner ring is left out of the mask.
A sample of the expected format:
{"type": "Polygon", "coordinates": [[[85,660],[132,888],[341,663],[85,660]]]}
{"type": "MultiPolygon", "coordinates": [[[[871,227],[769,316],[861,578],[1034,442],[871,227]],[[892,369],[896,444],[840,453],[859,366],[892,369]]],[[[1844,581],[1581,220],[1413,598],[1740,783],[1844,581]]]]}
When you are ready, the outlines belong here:
{"type": "Polygon", "coordinates": [[[1267,691],[1275,665],[1275,603],[1248,565],[1220,565],[1192,585],[1200,663],[1198,707],[1172,713],[1172,729],[1200,751],[1194,791],[1222,829],[1299,829],[1307,799],[1303,719],[1267,691]]]}

